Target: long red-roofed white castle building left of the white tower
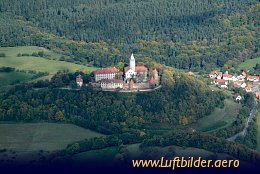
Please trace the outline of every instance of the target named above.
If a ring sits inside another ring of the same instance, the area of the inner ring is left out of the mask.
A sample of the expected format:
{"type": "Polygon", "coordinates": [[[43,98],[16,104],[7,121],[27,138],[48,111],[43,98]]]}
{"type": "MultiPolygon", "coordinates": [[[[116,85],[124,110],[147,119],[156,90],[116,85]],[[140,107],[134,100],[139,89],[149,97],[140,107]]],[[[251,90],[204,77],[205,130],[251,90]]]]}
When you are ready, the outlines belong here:
{"type": "Polygon", "coordinates": [[[114,79],[119,73],[120,72],[116,67],[100,68],[94,72],[95,81],[98,82],[102,79],[114,79]]]}

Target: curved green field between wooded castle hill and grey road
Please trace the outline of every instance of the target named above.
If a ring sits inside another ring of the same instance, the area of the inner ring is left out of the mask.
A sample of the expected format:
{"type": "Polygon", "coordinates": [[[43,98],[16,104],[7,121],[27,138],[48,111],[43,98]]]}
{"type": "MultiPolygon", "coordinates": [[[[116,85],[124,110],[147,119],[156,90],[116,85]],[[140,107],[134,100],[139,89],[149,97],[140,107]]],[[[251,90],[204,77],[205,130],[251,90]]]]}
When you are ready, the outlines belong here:
{"type": "Polygon", "coordinates": [[[235,120],[241,105],[231,99],[226,99],[224,105],[223,109],[216,108],[212,114],[199,119],[190,126],[205,132],[229,126],[235,120]]]}

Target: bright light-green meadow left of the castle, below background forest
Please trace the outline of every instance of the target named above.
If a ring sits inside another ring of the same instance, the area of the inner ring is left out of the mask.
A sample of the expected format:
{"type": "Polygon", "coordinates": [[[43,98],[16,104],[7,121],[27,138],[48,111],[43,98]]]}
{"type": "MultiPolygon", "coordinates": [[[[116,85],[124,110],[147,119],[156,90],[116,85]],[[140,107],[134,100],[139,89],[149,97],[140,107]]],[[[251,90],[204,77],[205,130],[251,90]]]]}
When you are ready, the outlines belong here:
{"type": "Polygon", "coordinates": [[[6,54],[6,57],[0,58],[0,67],[9,66],[19,70],[49,72],[50,74],[54,74],[59,70],[69,70],[72,72],[77,70],[91,72],[95,70],[94,67],[87,67],[75,63],[58,61],[58,58],[60,58],[61,55],[41,47],[4,47],[0,48],[0,52],[6,54]],[[33,56],[17,57],[18,53],[32,54],[33,52],[39,51],[43,51],[46,55],[48,55],[48,59],[33,56]]]}

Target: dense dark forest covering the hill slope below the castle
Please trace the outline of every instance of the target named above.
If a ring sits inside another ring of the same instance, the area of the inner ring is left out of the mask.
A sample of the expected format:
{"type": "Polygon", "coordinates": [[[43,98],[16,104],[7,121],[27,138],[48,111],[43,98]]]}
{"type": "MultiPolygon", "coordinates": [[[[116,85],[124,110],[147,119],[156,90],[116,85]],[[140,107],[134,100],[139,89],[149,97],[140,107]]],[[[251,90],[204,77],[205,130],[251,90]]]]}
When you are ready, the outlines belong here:
{"type": "Polygon", "coordinates": [[[50,82],[11,87],[0,96],[0,120],[66,121],[110,134],[141,130],[155,123],[186,125],[223,105],[221,92],[212,92],[203,82],[177,70],[174,84],[152,93],[60,89],[75,83],[76,75],[58,73],[50,82]]]}

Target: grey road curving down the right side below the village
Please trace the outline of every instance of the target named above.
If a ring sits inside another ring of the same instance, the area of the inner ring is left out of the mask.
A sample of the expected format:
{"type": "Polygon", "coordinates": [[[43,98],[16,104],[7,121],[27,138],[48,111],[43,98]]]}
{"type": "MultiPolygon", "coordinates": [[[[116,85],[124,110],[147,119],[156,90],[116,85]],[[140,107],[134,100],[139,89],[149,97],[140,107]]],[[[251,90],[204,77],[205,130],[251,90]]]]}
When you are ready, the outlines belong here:
{"type": "Polygon", "coordinates": [[[243,138],[246,136],[247,134],[247,130],[248,130],[248,127],[249,127],[249,124],[253,121],[253,118],[256,116],[257,114],[257,105],[258,105],[258,100],[255,98],[255,102],[253,104],[253,107],[252,107],[252,110],[251,110],[251,113],[249,115],[249,117],[247,118],[247,121],[245,123],[245,127],[243,129],[242,132],[239,132],[238,134],[228,138],[227,140],[228,141],[235,141],[235,139],[239,136],[242,136],[243,138]]]}

